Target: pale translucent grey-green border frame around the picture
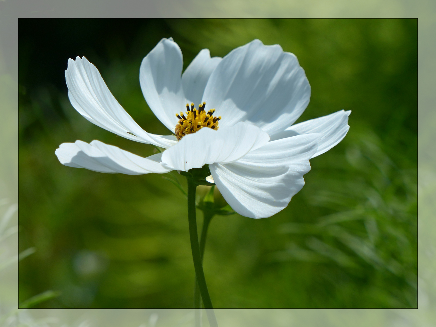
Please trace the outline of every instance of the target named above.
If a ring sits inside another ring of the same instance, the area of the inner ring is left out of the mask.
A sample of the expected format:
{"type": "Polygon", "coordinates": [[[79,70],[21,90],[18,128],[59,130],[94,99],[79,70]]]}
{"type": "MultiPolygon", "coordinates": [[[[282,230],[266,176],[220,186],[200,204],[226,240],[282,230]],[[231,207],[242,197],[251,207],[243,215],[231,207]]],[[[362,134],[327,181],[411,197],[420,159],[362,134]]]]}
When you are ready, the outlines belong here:
{"type": "MultiPolygon", "coordinates": [[[[436,326],[436,224],[433,218],[436,212],[436,2],[153,1],[0,0],[0,182],[10,200],[18,201],[19,17],[418,17],[419,309],[220,309],[216,310],[216,315],[221,326],[436,326]]],[[[2,274],[0,283],[12,283],[16,287],[17,265],[10,270],[12,272],[2,274]]],[[[0,292],[3,289],[2,285],[0,292]]],[[[16,307],[17,298],[2,299],[2,310],[16,307]]],[[[0,312],[0,315],[4,313],[0,312]]],[[[27,313],[34,319],[58,317],[59,325],[76,326],[80,321],[88,320],[90,326],[105,327],[149,326],[145,323],[152,313],[159,315],[157,326],[184,326],[193,317],[193,310],[189,309],[39,309],[27,313]]]]}

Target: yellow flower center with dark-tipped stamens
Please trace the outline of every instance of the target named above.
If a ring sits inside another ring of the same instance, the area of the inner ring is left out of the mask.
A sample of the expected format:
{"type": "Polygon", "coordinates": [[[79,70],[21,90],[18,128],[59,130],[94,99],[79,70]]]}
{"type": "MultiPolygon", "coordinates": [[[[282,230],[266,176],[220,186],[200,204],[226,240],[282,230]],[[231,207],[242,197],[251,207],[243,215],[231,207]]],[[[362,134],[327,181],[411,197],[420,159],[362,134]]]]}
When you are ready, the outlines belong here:
{"type": "Polygon", "coordinates": [[[215,109],[211,109],[206,112],[204,110],[205,108],[206,102],[198,105],[198,110],[197,108],[194,108],[194,103],[191,103],[191,108],[189,108],[189,104],[187,103],[187,112],[185,111],[186,116],[183,112],[180,112],[180,114],[176,113],[176,116],[179,119],[176,129],[174,130],[177,140],[181,140],[183,136],[195,133],[203,127],[218,129],[218,120],[221,119],[221,116],[212,116],[212,114],[215,112],[215,109]]]}

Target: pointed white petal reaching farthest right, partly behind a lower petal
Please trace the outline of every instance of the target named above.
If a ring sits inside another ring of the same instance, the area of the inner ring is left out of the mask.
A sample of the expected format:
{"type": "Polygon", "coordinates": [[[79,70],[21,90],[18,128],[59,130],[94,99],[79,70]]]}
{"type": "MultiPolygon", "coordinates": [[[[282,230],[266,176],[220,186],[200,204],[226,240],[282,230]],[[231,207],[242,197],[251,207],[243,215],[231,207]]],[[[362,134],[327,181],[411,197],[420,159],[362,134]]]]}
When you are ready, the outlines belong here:
{"type": "Polygon", "coordinates": [[[313,154],[313,157],[317,157],[341,142],[345,135],[347,135],[348,129],[350,129],[350,126],[348,126],[348,116],[350,116],[350,113],[351,110],[340,110],[327,116],[310,119],[288,127],[283,132],[271,137],[271,139],[277,140],[300,134],[321,133],[323,137],[318,144],[317,152],[313,154]]]}

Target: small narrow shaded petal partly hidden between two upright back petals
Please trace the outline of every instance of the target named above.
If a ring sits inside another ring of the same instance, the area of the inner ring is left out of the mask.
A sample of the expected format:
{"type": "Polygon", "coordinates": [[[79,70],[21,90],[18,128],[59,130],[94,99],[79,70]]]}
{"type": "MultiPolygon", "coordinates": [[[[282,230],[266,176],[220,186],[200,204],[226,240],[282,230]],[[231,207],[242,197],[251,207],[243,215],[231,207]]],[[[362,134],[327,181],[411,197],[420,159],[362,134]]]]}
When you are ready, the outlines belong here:
{"type": "Polygon", "coordinates": [[[203,49],[197,54],[182,75],[183,91],[187,102],[194,102],[196,106],[201,103],[206,83],[221,60],[221,57],[211,58],[208,49],[203,49]]]}

